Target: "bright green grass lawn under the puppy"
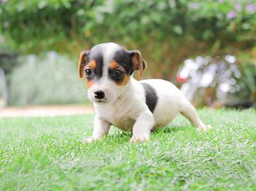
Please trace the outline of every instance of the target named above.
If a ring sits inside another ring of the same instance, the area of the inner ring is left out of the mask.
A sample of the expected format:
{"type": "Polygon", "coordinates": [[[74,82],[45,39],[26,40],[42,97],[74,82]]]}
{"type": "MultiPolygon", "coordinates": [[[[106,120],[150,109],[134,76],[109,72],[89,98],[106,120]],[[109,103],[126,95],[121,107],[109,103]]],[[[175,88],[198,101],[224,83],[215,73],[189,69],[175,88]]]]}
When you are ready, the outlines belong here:
{"type": "Polygon", "coordinates": [[[199,110],[146,144],[111,128],[82,144],[93,115],[0,119],[0,190],[256,190],[255,110],[199,110]]]}

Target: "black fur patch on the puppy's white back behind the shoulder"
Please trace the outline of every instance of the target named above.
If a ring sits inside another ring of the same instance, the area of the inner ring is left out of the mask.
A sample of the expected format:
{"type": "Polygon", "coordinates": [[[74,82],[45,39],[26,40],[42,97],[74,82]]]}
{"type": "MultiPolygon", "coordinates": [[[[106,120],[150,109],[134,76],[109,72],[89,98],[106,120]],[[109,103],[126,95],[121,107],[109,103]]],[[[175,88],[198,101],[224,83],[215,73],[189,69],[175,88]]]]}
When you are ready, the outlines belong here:
{"type": "Polygon", "coordinates": [[[146,98],[146,104],[148,105],[148,109],[153,113],[155,110],[155,105],[157,105],[157,93],[155,92],[155,89],[150,86],[148,83],[141,83],[143,85],[143,88],[145,90],[145,98],[146,98]]]}

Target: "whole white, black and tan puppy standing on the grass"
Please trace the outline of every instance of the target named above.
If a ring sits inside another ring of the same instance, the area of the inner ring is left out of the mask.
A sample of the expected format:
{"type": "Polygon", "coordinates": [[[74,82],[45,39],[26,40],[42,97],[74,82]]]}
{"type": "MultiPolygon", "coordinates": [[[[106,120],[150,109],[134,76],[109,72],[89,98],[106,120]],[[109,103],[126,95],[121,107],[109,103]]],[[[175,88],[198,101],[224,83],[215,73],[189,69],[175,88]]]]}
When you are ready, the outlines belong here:
{"type": "Polygon", "coordinates": [[[101,140],[111,125],[133,132],[130,142],[150,139],[151,130],[169,124],[181,112],[197,129],[208,129],[179,89],[169,81],[137,81],[145,62],[138,50],[128,51],[113,42],[94,46],[79,58],[79,76],[87,83],[94,103],[94,131],[87,142],[101,140]]]}

